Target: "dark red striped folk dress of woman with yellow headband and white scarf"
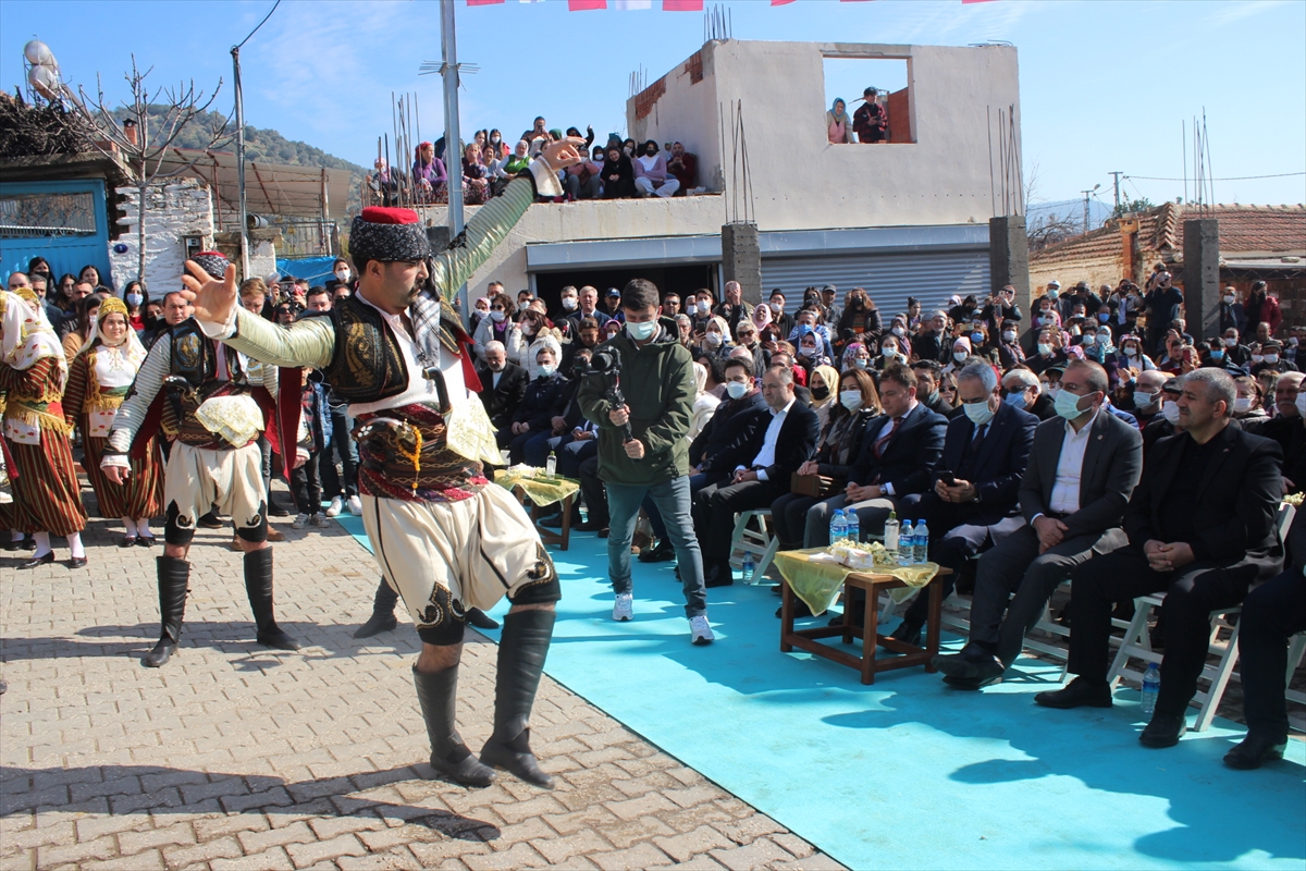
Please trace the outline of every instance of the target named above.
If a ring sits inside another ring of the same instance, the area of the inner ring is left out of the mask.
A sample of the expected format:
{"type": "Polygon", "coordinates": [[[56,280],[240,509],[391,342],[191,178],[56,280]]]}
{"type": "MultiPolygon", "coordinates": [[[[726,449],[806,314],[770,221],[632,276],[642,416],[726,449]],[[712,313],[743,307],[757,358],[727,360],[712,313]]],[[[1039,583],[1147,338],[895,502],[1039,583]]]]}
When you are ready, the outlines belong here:
{"type": "Polygon", "coordinates": [[[95,358],[99,354],[112,353],[94,347],[78,354],[69,363],[68,387],[64,389],[63,401],[64,420],[69,426],[76,424],[81,428],[85,452],[82,467],[95,491],[99,516],[132,520],[158,517],[163,513],[163,457],[157,436],[150,439],[145,456],[132,457],[131,474],[123,483],[114,483],[99,467],[104,447],[108,444],[114,411],[123,404],[129,389],[129,387],[103,387],[95,379],[95,358]]]}

